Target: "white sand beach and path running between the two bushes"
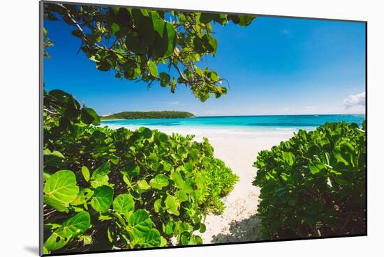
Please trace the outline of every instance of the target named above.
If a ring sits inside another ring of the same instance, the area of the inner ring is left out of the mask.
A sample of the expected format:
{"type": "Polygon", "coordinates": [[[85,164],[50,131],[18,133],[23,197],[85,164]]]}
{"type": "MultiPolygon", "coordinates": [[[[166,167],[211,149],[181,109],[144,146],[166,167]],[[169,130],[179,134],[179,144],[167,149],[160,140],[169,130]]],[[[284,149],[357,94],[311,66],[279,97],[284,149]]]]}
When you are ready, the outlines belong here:
{"type": "MultiPolygon", "coordinates": [[[[112,127],[112,126],[110,126],[112,127]]],[[[137,126],[125,126],[135,130],[137,126]]],[[[150,126],[149,126],[150,127],[150,126]]],[[[205,219],[207,231],[200,234],[205,244],[244,242],[258,240],[256,218],[260,189],[252,185],[257,169],[253,162],[260,150],[269,150],[293,137],[293,130],[217,130],[201,127],[150,127],[172,134],[195,134],[195,140],[207,137],[214,147],[214,156],[222,159],[239,176],[239,181],[228,196],[222,215],[208,215],[205,219]]],[[[198,234],[198,233],[197,233],[198,234]]]]}

